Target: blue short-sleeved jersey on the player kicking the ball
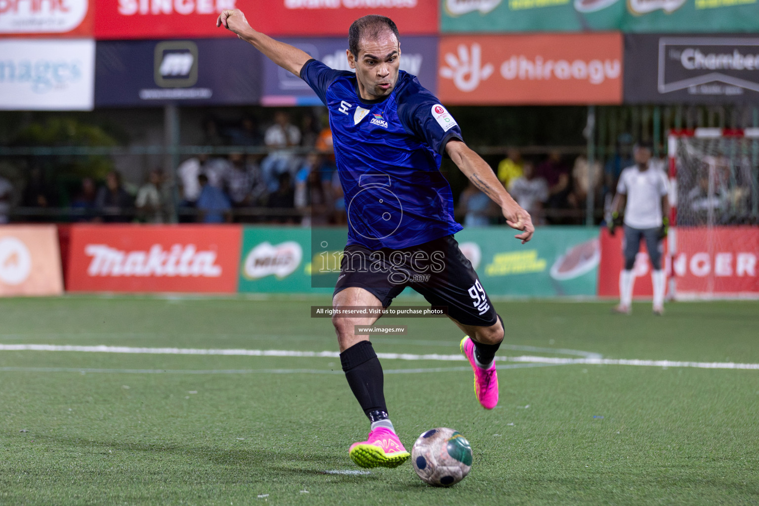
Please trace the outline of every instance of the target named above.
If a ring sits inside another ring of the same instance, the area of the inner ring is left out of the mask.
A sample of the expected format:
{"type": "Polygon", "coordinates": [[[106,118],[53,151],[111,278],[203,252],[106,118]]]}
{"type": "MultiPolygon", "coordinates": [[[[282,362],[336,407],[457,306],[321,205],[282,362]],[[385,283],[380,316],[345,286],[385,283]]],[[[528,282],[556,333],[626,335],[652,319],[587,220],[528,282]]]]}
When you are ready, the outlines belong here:
{"type": "Polygon", "coordinates": [[[309,60],[301,78],[329,109],[345,194],[348,244],[372,250],[416,246],[461,230],[441,154],[458,124],[411,74],[398,72],[389,96],[364,100],[356,76],[309,60]]]}

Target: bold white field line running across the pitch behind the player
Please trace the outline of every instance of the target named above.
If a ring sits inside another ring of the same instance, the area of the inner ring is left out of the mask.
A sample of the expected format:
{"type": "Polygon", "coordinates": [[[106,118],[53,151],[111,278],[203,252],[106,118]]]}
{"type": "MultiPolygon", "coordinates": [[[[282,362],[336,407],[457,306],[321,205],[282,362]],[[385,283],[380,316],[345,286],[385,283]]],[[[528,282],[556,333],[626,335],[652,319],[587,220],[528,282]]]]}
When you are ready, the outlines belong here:
{"type": "MultiPolygon", "coordinates": [[[[299,351],[299,350],[244,350],[244,349],[203,349],[203,348],[150,348],[128,346],[76,346],[60,344],[0,344],[0,351],[77,351],[83,353],[116,354],[168,354],[168,355],[235,355],[246,357],[317,357],[339,358],[337,351],[299,351]]],[[[385,360],[442,360],[461,362],[466,357],[461,354],[389,354],[379,353],[377,357],[385,360]]],[[[560,358],[560,357],[496,357],[496,360],[521,363],[546,363],[552,365],[603,365],[603,366],[650,366],[650,367],[696,367],[699,369],[759,369],[759,363],[735,362],[683,362],[677,360],[636,360],[609,359],[600,357],[560,358]]]]}

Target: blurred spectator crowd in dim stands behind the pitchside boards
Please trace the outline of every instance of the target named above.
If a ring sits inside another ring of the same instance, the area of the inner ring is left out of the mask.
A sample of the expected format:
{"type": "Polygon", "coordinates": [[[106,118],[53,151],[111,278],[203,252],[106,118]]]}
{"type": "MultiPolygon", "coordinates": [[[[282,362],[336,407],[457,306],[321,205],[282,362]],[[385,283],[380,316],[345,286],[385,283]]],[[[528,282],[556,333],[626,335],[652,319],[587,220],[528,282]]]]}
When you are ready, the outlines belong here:
{"type": "MultiPolygon", "coordinates": [[[[253,116],[225,125],[209,117],[202,121],[201,135],[203,146],[223,146],[225,149],[214,151],[229,154],[191,156],[178,165],[175,174],[153,168],[142,185],[125,184],[118,171],[107,174],[102,184],[94,178],[83,178],[68,200],[68,219],[303,226],[346,223],[326,118],[311,111],[295,124],[287,111],[277,110],[272,123],[260,128],[253,116]],[[244,149],[235,151],[235,146],[244,149]]],[[[631,140],[621,138],[603,166],[594,163],[593,178],[589,178],[585,156],[565,156],[556,150],[529,157],[522,156],[519,149],[507,149],[494,171],[515,200],[531,213],[536,225],[581,224],[591,193],[596,209],[610,206],[619,174],[633,165],[631,148],[631,140]]],[[[664,169],[661,159],[653,159],[652,163],[664,169]]],[[[706,191],[704,181],[699,184],[701,187],[694,185],[693,200],[707,206],[707,200],[716,197],[709,195],[699,200],[698,192],[706,191]]],[[[11,181],[0,175],[0,223],[8,222],[14,203],[25,209],[55,208],[43,171],[30,169],[20,196],[14,195],[11,181]]],[[[456,204],[456,217],[467,227],[504,223],[500,209],[473,184],[459,193],[456,204]]],[[[35,218],[29,213],[22,219],[49,221],[61,217],[66,219],[60,214],[39,213],[35,218]]]]}

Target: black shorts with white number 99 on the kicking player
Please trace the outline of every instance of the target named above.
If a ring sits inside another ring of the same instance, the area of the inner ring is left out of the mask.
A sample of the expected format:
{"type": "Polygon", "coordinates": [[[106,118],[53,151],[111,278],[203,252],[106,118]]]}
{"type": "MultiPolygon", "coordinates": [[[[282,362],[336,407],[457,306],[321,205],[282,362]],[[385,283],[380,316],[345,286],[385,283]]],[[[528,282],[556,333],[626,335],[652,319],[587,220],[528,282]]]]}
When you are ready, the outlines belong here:
{"type": "Polygon", "coordinates": [[[448,306],[448,316],[462,325],[489,327],[498,321],[477,272],[452,235],[402,250],[345,247],[335,294],[364,288],[387,307],[407,286],[433,306],[448,306]]]}

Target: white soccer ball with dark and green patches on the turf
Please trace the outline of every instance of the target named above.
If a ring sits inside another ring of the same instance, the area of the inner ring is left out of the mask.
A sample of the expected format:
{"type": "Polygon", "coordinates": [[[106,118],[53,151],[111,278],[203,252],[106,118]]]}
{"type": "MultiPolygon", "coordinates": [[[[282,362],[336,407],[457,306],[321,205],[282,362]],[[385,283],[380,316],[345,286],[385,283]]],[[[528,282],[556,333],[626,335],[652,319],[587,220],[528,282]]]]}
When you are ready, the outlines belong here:
{"type": "Polygon", "coordinates": [[[472,449],[466,438],[453,429],[430,429],[414,442],[411,464],[423,482],[452,486],[469,474],[472,449]]]}

